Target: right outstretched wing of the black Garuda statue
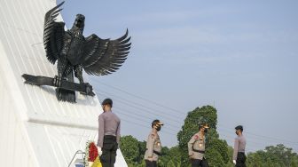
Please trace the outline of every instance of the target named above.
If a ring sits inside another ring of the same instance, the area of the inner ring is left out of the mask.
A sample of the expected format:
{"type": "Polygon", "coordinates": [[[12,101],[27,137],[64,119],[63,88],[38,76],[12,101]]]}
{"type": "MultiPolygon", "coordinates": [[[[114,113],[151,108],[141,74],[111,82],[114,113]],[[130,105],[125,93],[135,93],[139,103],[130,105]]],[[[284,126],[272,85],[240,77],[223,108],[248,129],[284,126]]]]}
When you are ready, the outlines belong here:
{"type": "Polygon", "coordinates": [[[122,66],[130,49],[128,30],[124,36],[115,39],[101,39],[92,34],[85,38],[82,68],[89,75],[105,76],[122,66]]]}

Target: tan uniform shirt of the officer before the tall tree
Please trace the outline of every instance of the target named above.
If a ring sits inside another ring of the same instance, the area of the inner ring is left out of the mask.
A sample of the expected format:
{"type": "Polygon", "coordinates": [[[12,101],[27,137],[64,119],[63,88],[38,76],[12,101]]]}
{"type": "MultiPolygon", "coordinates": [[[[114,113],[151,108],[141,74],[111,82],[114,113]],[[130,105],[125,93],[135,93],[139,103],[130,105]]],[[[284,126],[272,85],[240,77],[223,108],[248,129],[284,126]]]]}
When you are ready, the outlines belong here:
{"type": "Polygon", "coordinates": [[[204,157],[204,154],[198,153],[193,151],[195,150],[200,150],[200,151],[205,151],[205,136],[201,134],[200,132],[195,133],[192,136],[192,139],[188,142],[188,155],[192,155],[193,159],[199,159],[202,160],[204,157]]]}

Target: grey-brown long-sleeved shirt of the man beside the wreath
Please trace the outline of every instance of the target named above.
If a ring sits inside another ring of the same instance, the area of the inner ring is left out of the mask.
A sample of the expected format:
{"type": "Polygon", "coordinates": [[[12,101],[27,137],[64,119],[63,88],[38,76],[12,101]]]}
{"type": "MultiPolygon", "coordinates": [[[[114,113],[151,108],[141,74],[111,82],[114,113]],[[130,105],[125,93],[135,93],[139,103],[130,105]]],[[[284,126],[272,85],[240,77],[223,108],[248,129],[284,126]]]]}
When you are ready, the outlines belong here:
{"type": "Polygon", "coordinates": [[[98,147],[103,147],[104,136],[112,135],[120,141],[120,119],[112,111],[106,111],[98,116],[98,147]]]}

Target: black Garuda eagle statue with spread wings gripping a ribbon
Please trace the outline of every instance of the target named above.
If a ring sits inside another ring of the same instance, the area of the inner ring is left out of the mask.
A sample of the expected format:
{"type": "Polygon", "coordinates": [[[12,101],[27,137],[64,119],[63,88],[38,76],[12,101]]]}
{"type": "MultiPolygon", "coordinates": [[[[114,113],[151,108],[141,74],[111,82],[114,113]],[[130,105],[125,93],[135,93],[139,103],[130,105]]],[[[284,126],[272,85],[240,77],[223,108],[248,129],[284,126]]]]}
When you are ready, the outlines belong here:
{"type": "Polygon", "coordinates": [[[89,75],[105,76],[122,66],[130,49],[128,30],[124,36],[115,39],[101,39],[95,34],[82,36],[85,17],[77,14],[73,27],[65,31],[64,22],[56,22],[62,9],[57,5],[45,13],[43,44],[47,59],[57,63],[58,76],[23,75],[25,83],[35,85],[51,85],[57,87],[59,100],[75,102],[75,91],[86,95],[94,95],[89,83],[84,83],[82,69],[89,75]],[[80,83],[74,83],[75,77],[80,83]]]}

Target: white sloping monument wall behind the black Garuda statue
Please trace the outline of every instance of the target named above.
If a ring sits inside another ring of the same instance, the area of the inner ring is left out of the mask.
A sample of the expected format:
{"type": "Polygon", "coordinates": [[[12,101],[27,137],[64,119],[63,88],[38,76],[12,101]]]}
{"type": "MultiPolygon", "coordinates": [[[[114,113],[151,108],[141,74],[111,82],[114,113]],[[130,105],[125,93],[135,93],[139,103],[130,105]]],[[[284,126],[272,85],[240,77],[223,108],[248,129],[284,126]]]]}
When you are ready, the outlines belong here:
{"type": "MultiPolygon", "coordinates": [[[[57,74],[43,49],[44,13],[55,5],[53,0],[1,0],[0,166],[67,167],[88,140],[98,139],[102,109],[96,96],[78,93],[75,104],[59,102],[52,87],[28,85],[21,77],[57,74]]],[[[120,150],[115,166],[127,166],[120,150]]]]}

